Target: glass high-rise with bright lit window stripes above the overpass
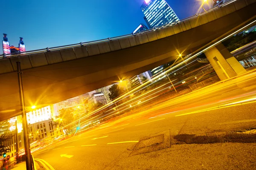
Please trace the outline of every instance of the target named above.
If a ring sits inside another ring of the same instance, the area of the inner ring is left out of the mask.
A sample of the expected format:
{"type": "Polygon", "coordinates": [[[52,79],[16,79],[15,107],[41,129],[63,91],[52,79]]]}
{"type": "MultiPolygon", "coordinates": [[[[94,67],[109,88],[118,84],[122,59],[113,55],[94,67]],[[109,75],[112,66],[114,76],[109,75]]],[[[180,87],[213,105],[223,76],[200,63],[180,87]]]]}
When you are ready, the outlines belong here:
{"type": "Polygon", "coordinates": [[[145,0],[140,7],[149,28],[178,21],[179,18],[165,0],[145,0]]]}

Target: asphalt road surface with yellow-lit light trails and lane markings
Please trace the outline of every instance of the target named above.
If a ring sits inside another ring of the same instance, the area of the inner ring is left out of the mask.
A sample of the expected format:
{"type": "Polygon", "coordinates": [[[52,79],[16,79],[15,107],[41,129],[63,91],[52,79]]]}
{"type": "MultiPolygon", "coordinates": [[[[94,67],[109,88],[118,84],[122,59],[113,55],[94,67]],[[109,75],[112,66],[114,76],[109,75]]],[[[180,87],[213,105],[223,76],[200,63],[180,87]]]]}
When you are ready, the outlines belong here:
{"type": "Polygon", "coordinates": [[[33,155],[50,170],[256,169],[255,81],[219,82],[33,155]]]}

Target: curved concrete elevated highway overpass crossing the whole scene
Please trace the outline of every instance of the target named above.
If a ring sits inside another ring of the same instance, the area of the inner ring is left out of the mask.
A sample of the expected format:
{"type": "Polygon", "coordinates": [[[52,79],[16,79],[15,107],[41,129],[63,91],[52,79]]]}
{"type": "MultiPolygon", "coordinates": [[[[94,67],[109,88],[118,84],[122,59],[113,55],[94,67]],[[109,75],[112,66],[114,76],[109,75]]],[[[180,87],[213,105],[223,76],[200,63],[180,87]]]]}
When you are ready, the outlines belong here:
{"type": "Polygon", "coordinates": [[[256,0],[221,7],[140,34],[0,59],[0,120],[20,114],[16,62],[26,106],[50,105],[189,54],[256,15],[256,0]]]}

